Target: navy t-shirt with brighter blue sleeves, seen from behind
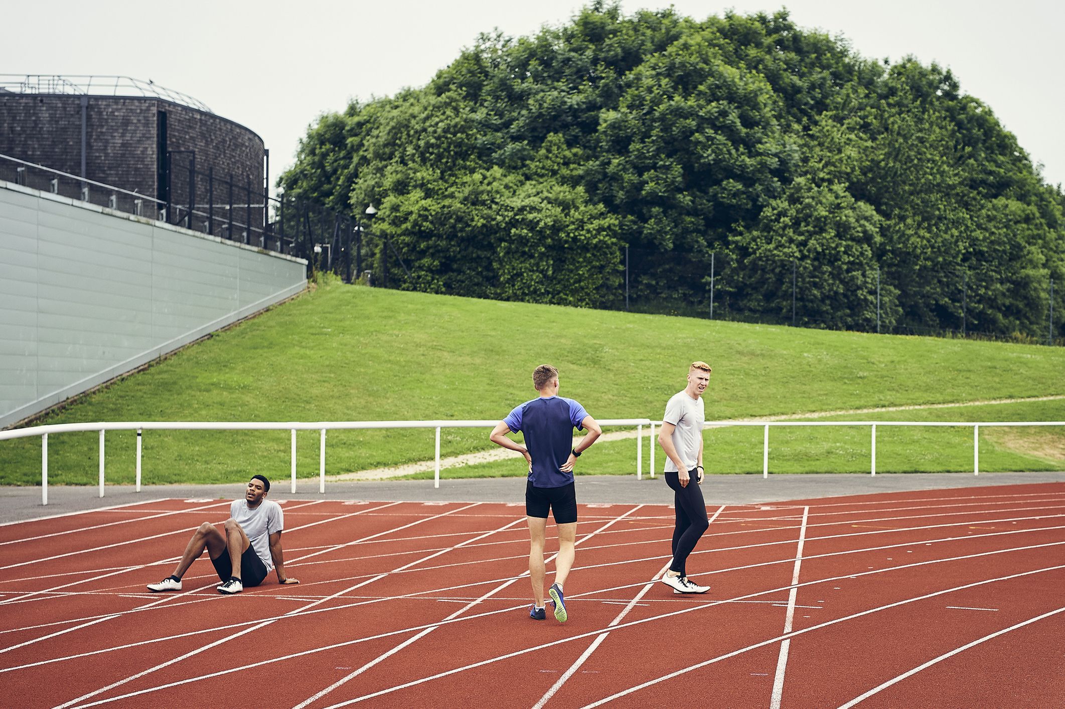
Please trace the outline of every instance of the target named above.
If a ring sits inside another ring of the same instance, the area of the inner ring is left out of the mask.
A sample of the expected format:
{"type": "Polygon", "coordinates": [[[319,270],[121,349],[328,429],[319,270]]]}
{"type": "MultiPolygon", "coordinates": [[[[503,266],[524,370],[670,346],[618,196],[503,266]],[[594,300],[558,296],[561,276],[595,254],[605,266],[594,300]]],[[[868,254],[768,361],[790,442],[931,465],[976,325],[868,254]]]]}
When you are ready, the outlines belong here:
{"type": "Polygon", "coordinates": [[[532,458],[529,480],[535,488],[561,488],[573,482],[573,473],[561,467],[573,449],[573,429],[588,412],[577,401],[561,396],[537,397],[514,407],[503,423],[514,433],[525,434],[525,447],[532,458]]]}

